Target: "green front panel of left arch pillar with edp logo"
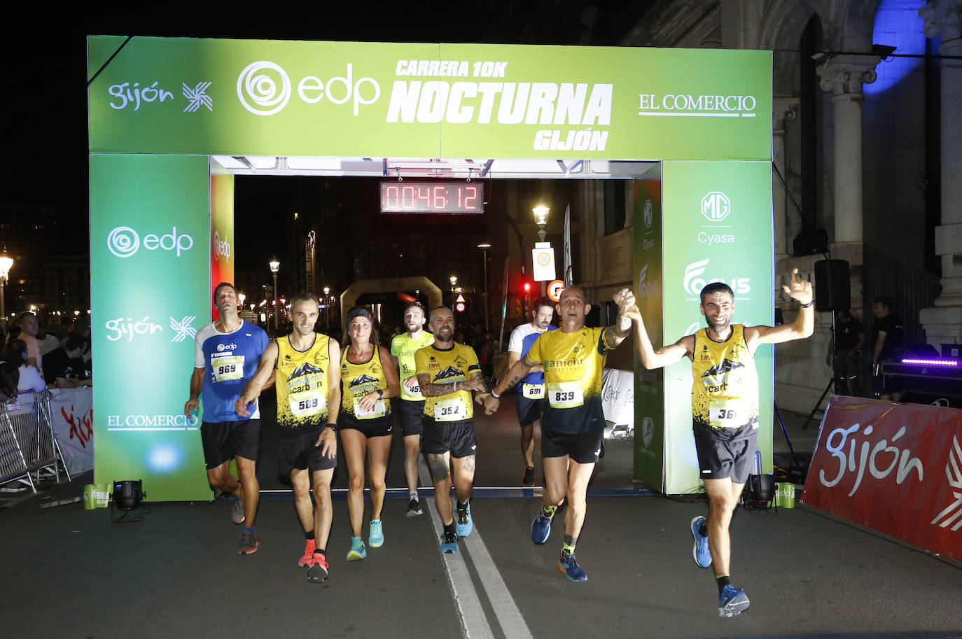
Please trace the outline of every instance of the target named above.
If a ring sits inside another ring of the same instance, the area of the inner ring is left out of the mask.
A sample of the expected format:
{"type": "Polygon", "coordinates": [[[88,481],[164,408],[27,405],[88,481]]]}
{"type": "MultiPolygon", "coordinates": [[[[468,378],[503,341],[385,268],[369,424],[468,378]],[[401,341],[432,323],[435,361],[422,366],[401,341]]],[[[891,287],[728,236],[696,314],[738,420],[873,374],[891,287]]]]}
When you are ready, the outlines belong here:
{"type": "Polygon", "coordinates": [[[200,424],[184,415],[211,261],[204,156],[90,156],[94,477],[152,501],[207,499],[200,424]]]}

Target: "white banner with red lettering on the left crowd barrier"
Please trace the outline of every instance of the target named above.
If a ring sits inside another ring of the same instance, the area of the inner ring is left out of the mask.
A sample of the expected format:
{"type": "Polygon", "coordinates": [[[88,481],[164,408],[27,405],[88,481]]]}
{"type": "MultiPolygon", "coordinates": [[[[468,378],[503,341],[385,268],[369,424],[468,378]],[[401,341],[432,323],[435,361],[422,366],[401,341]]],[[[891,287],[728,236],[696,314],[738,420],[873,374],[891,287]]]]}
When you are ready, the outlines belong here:
{"type": "Polygon", "coordinates": [[[89,386],[50,390],[50,422],[71,476],[93,469],[93,391],[89,386]]]}

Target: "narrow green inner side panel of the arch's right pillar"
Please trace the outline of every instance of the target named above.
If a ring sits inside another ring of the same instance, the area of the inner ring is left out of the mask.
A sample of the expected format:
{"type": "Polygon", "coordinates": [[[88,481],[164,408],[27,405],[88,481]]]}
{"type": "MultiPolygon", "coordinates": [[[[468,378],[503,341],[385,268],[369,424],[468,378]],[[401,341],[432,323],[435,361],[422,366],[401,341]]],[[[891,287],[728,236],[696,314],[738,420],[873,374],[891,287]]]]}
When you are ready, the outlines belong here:
{"type": "MultiPolygon", "coordinates": [[[[662,166],[647,170],[635,181],[634,268],[635,297],[652,344],[664,340],[662,296],[662,166]]],[[[662,490],[665,454],[665,372],[646,371],[635,352],[635,465],[634,476],[662,490]]]]}

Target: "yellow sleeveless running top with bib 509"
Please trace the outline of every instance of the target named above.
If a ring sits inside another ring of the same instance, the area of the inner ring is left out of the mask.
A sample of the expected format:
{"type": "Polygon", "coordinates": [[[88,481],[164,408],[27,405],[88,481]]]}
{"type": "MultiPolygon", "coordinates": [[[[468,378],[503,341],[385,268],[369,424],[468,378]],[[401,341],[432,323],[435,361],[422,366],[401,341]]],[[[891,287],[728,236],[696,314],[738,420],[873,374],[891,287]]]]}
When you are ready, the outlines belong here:
{"type": "Polygon", "coordinates": [[[327,422],[330,338],[314,334],[314,344],[301,352],[291,338],[277,340],[277,425],[282,430],[308,432],[327,422]]]}

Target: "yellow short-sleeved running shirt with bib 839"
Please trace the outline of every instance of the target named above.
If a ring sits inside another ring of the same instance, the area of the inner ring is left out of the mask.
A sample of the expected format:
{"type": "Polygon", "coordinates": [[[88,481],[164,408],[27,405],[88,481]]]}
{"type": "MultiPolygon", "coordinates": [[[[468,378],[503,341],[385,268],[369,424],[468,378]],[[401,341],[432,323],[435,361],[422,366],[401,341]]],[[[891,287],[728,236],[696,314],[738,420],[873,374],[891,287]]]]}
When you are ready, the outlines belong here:
{"type": "Polygon", "coordinates": [[[608,351],[604,328],[576,333],[547,331],[535,340],[527,357],[544,366],[544,428],[559,433],[586,433],[604,428],[601,373],[608,351]]]}

